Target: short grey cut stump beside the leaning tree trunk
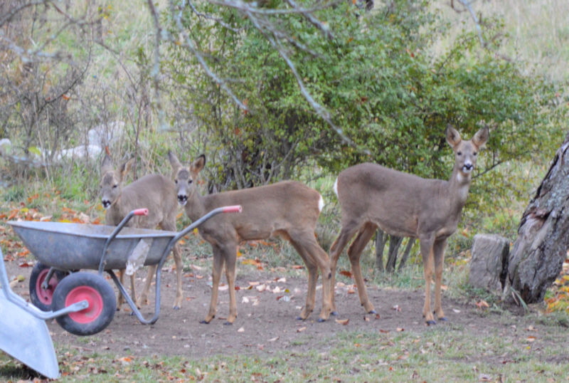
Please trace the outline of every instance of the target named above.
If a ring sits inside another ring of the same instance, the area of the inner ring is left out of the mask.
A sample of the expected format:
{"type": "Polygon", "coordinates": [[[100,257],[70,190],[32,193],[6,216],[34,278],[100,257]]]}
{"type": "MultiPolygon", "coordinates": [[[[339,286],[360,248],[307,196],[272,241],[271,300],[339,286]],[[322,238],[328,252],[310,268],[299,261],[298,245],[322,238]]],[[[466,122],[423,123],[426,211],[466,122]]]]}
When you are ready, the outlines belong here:
{"type": "Polygon", "coordinates": [[[494,234],[477,234],[472,245],[469,283],[500,294],[506,283],[510,241],[494,234]]]}

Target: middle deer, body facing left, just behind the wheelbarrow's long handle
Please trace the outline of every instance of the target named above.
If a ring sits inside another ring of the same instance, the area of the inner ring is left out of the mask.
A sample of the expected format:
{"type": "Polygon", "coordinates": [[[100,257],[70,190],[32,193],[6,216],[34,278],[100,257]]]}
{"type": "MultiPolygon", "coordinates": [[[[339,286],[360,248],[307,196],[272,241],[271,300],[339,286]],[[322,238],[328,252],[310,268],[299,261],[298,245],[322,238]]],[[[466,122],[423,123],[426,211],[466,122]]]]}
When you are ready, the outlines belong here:
{"type": "Polygon", "coordinates": [[[208,211],[224,205],[241,205],[240,214],[223,214],[198,226],[201,237],[211,244],[213,252],[212,291],[208,314],[201,323],[216,317],[220,276],[225,266],[229,288],[229,315],[225,324],[232,325],[237,318],[235,301],[235,268],[238,245],[241,241],[263,240],[281,236],[288,240],[307,266],[308,291],[306,305],[297,317],[309,318],[314,310],[318,271],[322,275],[322,308],[319,321],[329,318],[331,312],[330,261],[326,251],[318,244],[314,230],[324,206],[322,196],[314,189],[296,181],[251,187],[249,189],[201,195],[196,187],[198,174],[206,164],[201,154],[187,167],[169,152],[174,172],[176,196],[192,221],[208,211]]]}

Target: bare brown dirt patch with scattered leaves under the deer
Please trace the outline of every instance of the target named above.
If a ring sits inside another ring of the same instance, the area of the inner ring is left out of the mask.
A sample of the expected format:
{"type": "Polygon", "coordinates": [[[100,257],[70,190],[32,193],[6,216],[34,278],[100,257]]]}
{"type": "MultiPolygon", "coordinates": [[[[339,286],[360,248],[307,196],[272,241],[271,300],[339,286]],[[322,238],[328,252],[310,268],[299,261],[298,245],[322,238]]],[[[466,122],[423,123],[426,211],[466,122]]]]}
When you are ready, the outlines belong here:
{"type": "MultiPolygon", "coordinates": [[[[207,266],[208,260],[203,261],[207,266]]],[[[211,260],[209,260],[211,261],[211,260]]],[[[28,276],[31,268],[20,268],[16,261],[6,261],[9,278],[24,276],[13,290],[23,298],[29,298],[28,276]]],[[[241,266],[245,268],[245,266],[241,266]]],[[[248,269],[253,269],[249,267],[248,269]]],[[[154,325],[142,325],[134,315],[129,315],[127,305],[115,313],[110,325],[90,337],[71,335],[55,320],[48,323],[55,350],[63,346],[85,352],[108,353],[117,356],[136,355],[184,355],[207,357],[219,354],[272,354],[280,350],[302,352],[314,347],[310,340],[334,337],[341,331],[395,332],[420,334],[427,330],[421,317],[423,291],[379,290],[368,283],[368,293],[379,315],[366,315],[359,305],[353,285],[336,288],[336,307],[339,315],[327,322],[317,322],[321,307],[321,288],[317,290],[317,309],[309,320],[297,320],[304,305],[307,280],[299,277],[283,278],[276,273],[254,270],[245,276],[238,272],[238,318],[233,325],[225,325],[228,314],[228,291],[221,288],[218,315],[210,324],[201,324],[208,310],[211,294],[211,278],[207,267],[195,266],[184,273],[184,304],[180,310],[171,308],[175,295],[175,273],[164,268],[162,273],[161,313],[154,325]]],[[[142,285],[144,273],[139,271],[138,283],[142,285]]],[[[302,276],[302,277],[301,277],[302,276]]],[[[153,294],[154,295],[154,294],[153,294]]],[[[484,332],[489,326],[521,326],[520,317],[510,315],[481,315],[481,309],[473,303],[459,303],[443,296],[443,308],[449,322],[437,326],[457,326],[484,332]]],[[[143,308],[149,318],[154,305],[143,308]]]]}

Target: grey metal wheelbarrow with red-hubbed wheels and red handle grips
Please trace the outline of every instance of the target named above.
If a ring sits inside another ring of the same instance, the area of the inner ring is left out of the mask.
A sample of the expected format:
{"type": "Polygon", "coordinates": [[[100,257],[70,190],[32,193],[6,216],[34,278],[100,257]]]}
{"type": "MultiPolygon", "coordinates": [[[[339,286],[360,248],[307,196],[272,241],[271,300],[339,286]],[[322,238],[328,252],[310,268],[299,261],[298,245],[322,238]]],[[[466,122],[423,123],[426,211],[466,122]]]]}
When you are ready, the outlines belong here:
{"type": "Polygon", "coordinates": [[[179,232],[125,227],[134,215],[148,214],[147,209],[131,211],[117,226],[38,221],[8,224],[39,261],[30,276],[32,303],[43,311],[87,303],[87,308],[60,315],[55,320],[75,335],[92,335],[105,329],[116,311],[115,291],[102,276],[104,272],[111,276],[140,322],[152,324],[160,313],[161,268],[176,242],[212,216],[238,211],[241,206],[213,209],[179,232]],[[113,271],[126,268],[129,255],[143,240],[149,243],[144,265],[157,266],[154,315],[150,319],[140,313],[113,271]]]}

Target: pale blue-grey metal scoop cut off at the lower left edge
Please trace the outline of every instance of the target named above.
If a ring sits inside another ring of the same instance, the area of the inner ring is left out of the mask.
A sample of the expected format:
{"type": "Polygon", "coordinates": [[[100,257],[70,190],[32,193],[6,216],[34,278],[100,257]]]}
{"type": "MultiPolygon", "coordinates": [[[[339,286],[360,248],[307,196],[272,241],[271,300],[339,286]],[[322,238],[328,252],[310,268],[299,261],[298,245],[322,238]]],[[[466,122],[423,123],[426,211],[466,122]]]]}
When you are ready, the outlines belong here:
{"type": "Polygon", "coordinates": [[[12,292],[1,251],[0,261],[0,349],[55,379],[59,377],[58,360],[46,321],[32,314],[35,306],[12,292]]]}

